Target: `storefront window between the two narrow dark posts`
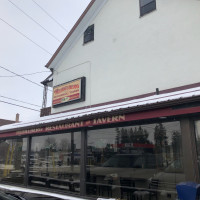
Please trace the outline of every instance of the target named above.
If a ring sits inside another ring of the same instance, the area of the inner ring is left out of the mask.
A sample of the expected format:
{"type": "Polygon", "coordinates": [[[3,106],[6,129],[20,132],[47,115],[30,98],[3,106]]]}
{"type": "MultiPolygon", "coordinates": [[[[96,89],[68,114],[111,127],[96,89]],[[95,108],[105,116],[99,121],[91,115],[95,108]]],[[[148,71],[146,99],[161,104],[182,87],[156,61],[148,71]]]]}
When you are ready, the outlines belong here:
{"type": "Polygon", "coordinates": [[[80,192],[80,132],[32,138],[29,184],[80,192]]]}

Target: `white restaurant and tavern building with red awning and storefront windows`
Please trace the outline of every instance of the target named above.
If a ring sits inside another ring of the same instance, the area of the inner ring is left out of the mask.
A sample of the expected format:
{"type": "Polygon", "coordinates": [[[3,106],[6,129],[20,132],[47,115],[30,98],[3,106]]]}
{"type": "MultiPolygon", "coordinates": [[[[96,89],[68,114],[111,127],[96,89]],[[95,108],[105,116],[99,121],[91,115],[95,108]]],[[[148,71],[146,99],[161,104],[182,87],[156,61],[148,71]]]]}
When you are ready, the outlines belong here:
{"type": "Polygon", "coordinates": [[[0,128],[1,182],[129,200],[198,183],[199,11],[91,1],[46,65],[52,114],[0,128]]]}

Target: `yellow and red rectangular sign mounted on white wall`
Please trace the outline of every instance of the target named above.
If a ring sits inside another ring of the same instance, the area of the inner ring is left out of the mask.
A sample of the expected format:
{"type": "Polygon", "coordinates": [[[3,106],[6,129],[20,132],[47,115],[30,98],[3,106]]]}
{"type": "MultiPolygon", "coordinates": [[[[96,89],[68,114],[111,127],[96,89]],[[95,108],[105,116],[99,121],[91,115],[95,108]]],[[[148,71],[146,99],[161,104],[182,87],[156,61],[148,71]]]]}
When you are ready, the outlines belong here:
{"type": "Polygon", "coordinates": [[[53,107],[85,100],[85,77],[53,88],[53,107]]]}

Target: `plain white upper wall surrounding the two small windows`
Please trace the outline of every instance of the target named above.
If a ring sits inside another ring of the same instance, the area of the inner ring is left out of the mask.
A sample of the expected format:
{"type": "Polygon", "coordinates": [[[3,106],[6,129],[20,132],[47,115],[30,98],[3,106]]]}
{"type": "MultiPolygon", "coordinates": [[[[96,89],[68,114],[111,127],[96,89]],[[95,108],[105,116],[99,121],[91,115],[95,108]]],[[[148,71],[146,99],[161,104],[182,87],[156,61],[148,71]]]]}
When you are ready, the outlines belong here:
{"type": "Polygon", "coordinates": [[[86,101],[53,112],[200,82],[200,1],[157,0],[140,18],[139,0],[108,0],[93,23],[94,41],[78,40],[53,83],[85,76],[86,101]]]}

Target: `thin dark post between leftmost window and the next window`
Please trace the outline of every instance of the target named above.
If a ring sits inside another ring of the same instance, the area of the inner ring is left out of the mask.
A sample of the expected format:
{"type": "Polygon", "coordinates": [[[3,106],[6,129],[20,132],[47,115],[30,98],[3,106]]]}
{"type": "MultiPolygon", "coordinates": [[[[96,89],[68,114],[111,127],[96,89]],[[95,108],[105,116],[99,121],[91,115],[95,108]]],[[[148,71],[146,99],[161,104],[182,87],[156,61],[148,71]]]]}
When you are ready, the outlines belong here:
{"type": "Polygon", "coordinates": [[[29,183],[29,164],[30,164],[30,154],[31,154],[31,137],[27,137],[27,147],[26,147],[26,162],[25,162],[25,173],[24,173],[24,185],[28,186],[29,183]]]}

